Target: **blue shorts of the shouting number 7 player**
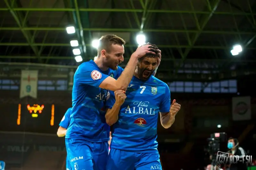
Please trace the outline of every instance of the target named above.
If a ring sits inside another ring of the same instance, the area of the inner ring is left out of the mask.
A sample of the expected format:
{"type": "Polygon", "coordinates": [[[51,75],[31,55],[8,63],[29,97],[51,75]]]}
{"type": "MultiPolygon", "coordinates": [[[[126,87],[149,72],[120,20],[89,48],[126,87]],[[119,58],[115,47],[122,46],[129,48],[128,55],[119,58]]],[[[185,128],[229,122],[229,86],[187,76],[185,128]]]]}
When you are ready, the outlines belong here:
{"type": "Polygon", "coordinates": [[[155,153],[137,153],[111,148],[107,170],[162,170],[160,156],[155,153]]]}

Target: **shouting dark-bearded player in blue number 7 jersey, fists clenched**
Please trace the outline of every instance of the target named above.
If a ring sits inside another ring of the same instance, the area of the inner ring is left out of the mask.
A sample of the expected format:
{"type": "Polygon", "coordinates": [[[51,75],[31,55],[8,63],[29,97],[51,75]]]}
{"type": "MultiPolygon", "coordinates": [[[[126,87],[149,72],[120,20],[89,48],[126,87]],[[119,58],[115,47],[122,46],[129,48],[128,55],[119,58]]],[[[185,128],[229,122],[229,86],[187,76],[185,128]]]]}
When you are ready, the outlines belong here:
{"type": "Polygon", "coordinates": [[[140,58],[126,92],[117,90],[106,102],[106,121],[113,125],[107,170],[162,169],[156,141],[158,112],[167,129],[180,104],[175,99],[171,104],[168,85],[152,75],[157,58],[149,53],[140,58]]]}

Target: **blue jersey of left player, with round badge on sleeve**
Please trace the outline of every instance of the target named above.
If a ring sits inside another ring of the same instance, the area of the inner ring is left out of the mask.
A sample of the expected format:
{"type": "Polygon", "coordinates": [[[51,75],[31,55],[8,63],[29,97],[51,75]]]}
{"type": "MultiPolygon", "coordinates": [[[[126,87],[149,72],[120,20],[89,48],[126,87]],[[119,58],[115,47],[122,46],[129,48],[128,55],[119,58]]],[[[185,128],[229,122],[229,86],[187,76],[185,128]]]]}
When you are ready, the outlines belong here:
{"type": "Polygon", "coordinates": [[[80,138],[90,142],[108,141],[110,127],[106,124],[104,103],[110,92],[99,88],[108,76],[117,78],[122,68],[102,71],[92,60],[82,63],[74,74],[72,111],[66,138],[80,138]]]}

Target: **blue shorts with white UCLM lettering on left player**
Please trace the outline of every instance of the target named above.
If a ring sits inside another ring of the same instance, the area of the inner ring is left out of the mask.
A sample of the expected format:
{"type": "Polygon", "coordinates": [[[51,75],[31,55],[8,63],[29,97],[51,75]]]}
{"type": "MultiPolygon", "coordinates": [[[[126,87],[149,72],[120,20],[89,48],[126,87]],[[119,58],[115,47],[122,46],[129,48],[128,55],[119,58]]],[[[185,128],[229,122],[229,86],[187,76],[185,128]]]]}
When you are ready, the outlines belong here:
{"type": "Polygon", "coordinates": [[[106,170],[108,142],[65,139],[70,170],[106,170]]]}

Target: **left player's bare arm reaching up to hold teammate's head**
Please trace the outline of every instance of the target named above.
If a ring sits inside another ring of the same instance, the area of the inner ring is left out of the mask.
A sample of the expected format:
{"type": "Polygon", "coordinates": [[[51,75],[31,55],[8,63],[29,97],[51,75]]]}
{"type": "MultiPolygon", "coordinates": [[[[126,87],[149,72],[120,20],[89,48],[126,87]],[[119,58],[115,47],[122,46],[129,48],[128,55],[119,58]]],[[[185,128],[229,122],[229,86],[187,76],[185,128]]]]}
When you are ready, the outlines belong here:
{"type": "Polygon", "coordinates": [[[132,76],[136,69],[138,59],[145,56],[146,53],[156,54],[155,52],[153,52],[155,50],[150,48],[150,46],[151,45],[144,45],[139,47],[134,53],[132,53],[129,62],[124,68],[124,71],[122,72],[120,77],[117,80],[112,77],[107,77],[104,81],[102,81],[99,87],[111,91],[116,91],[119,89],[125,91],[126,88],[129,86],[130,81],[132,80],[132,76]]]}

